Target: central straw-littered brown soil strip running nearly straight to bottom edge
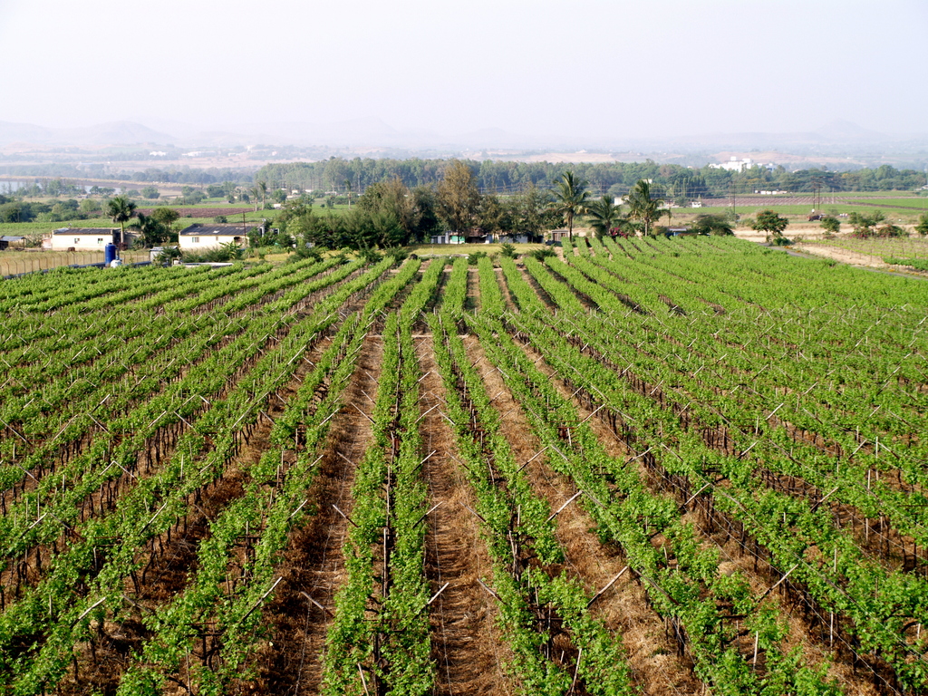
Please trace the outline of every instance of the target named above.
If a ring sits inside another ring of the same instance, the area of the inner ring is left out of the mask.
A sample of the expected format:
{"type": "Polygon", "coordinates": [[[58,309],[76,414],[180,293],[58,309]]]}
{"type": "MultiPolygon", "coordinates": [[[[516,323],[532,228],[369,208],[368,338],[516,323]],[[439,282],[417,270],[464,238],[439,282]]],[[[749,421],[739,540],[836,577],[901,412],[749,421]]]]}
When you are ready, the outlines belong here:
{"type": "Polygon", "coordinates": [[[449,584],[429,608],[436,664],[433,693],[510,694],[503,666],[510,662],[509,647],[496,626],[496,604],[478,582],[492,575],[493,563],[476,518],[464,507],[476,509],[477,503],[454,461],[454,434],[441,412],[445,385],[432,350],[431,337],[419,340],[419,366],[425,375],[420,403],[427,414],[422,440],[425,455],[432,455],[422,474],[429,484],[429,507],[441,505],[429,515],[425,572],[434,591],[449,584]]]}

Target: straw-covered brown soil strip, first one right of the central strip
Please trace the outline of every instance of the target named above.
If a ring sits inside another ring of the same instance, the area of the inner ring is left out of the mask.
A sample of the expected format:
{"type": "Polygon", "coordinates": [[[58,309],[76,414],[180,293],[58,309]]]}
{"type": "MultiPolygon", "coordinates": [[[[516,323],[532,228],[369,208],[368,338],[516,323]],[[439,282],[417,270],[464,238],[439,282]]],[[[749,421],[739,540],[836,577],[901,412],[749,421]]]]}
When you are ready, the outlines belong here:
{"type": "MultiPolygon", "coordinates": [[[[531,433],[531,427],[521,406],[503,382],[496,367],[483,353],[476,340],[466,342],[471,362],[480,371],[487,392],[494,394],[504,435],[515,458],[527,461],[535,456],[541,444],[531,433]]],[[[539,496],[548,500],[552,510],[558,509],[576,493],[574,484],[548,469],[536,458],[526,468],[529,480],[539,496]]],[[[625,567],[625,561],[615,548],[604,546],[593,528],[595,522],[576,501],[556,518],[557,535],[566,558],[566,567],[579,579],[591,595],[606,586],[625,567]]],[[[677,655],[676,644],[667,637],[664,623],[648,604],[644,589],[625,574],[593,605],[594,612],[616,634],[622,637],[627,663],[642,694],[702,693],[703,685],[692,672],[692,664],[677,655]]]]}

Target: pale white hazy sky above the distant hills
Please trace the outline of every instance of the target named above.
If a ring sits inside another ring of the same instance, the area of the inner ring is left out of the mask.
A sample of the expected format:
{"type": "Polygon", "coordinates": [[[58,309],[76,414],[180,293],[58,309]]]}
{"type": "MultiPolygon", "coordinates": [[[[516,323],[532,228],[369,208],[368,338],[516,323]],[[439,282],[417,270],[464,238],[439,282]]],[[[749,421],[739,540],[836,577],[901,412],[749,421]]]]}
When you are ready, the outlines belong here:
{"type": "Polygon", "coordinates": [[[0,121],[928,132],[928,0],[0,0],[0,121]]]}

